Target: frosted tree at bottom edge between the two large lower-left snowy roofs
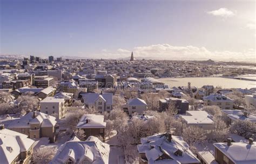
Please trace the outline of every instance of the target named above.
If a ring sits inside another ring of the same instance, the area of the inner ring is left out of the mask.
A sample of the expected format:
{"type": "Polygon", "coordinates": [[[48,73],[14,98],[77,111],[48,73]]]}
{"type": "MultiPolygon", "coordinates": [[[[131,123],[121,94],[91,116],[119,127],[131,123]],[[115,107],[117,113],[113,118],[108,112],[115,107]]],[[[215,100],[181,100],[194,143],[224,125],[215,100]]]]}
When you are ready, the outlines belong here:
{"type": "Polygon", "coordinates": [[[39,148],[33,152],[32,161],[38,164],[49,163],[53,159],[56,152],[57,149],[55,148],[39,148]]]}

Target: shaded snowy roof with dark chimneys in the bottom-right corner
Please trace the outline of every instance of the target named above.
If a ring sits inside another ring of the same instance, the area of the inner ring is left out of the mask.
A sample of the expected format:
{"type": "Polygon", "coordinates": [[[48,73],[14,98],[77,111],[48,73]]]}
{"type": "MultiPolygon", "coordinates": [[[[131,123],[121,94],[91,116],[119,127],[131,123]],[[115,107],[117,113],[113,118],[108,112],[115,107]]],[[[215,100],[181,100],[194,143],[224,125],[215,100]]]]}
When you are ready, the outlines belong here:
{"type": "Polygon", "coordinates": [[[256,142],[252,145],[248,142],[232,142],[231,146],[227,146],[227,143],[214,143],[213,145],[236,164],[256,163],[256,142]]]}

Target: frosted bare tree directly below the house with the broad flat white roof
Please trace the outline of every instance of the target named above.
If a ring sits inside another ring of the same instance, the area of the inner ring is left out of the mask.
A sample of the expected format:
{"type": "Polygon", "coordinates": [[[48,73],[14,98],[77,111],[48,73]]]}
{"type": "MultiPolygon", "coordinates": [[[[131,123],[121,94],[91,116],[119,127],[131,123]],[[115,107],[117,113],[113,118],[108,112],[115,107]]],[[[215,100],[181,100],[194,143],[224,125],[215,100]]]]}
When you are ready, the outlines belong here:
{"type": "Polygon", "coordinates": [[[188,126],[183,129],[183,139],[187,142],[190,147],[193,147],[194,144],[198,142],[205,142],[206,135],[203,128],[196,126],[188,126]]]}

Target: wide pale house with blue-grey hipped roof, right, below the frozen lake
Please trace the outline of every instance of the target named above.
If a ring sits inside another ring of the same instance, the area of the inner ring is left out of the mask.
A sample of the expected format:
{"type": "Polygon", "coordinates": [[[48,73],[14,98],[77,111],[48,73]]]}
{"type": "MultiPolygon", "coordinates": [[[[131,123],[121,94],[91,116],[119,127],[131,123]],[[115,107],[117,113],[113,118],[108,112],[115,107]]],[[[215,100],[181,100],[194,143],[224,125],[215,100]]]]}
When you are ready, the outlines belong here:
{"type": "Polygon", "coordinates": [[[217,105],[221,110],[233,110],[234,100],[226,97],[224,94],[210,94],[205,96],[204,105],[217,105]]]}

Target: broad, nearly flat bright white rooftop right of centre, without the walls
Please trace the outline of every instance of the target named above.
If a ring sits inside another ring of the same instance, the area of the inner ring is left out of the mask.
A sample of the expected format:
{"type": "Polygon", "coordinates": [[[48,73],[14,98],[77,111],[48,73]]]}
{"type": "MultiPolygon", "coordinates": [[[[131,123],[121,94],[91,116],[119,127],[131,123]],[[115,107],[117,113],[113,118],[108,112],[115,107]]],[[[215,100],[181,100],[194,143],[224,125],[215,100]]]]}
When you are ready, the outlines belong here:
{"type": "Polygon", "coordinates": [[[188,125],[213,125],[212,116],[205,111],[186,111],[180,115],[188,125]]]}

